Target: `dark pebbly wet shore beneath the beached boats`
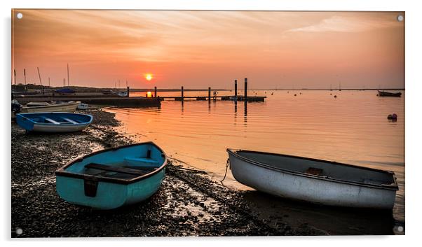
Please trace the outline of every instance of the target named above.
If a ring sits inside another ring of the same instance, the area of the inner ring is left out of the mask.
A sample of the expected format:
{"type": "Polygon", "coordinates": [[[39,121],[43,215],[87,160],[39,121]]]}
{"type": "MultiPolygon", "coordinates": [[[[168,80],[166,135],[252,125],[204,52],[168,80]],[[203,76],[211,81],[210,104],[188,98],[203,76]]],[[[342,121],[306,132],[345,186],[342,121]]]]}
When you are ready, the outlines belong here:
{"type": "Polygon", "coordinates": [[[93,124],[77,134],[25,134],[12,123],[12,237],[393,234],[388,215],[231,190],[175,160],[160,190],[145,202],[113,211],[69,204],[55,192],[57,168],[95,150],[131,143],[115,132],[119,123],[113,113],[89,113],[93,124]]]}

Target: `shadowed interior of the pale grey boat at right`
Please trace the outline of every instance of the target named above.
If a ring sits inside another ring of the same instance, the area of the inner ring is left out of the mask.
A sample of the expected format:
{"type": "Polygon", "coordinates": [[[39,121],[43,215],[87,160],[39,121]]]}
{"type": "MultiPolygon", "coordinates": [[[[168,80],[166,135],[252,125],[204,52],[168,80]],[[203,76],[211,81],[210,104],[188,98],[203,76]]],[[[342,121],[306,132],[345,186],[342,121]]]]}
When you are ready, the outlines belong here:
{"type": "Polygon", "coordinates": [[[365,183],[369,185],[395,184],[393,174],[390,174],[387,171],[366,169],[365,167],[312,160],[302,157],[291,157],[287,155],[255,153],[243,150],[237,151],[236,153],[249,160],[266,164],[275,169],[283,169],[300,174],[354,183],[365,183]]]}

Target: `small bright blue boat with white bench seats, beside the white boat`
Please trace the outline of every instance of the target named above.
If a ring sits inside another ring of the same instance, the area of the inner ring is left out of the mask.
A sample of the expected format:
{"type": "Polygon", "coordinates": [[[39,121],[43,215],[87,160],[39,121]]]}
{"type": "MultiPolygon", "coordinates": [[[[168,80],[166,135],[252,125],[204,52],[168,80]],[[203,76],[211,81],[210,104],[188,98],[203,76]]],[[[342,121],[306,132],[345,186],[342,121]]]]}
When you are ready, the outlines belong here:
{"type": "Polygon", "coordinates": [[[16,122],[27,132],[79,132],[85,129],[93,116],[79,113],[19,113],[16,122]]]}

